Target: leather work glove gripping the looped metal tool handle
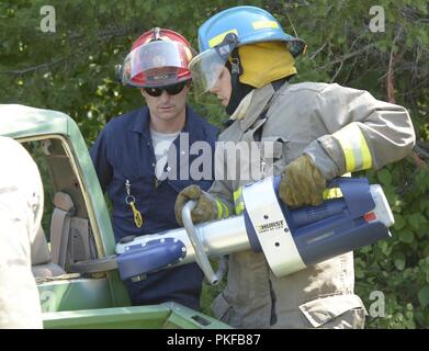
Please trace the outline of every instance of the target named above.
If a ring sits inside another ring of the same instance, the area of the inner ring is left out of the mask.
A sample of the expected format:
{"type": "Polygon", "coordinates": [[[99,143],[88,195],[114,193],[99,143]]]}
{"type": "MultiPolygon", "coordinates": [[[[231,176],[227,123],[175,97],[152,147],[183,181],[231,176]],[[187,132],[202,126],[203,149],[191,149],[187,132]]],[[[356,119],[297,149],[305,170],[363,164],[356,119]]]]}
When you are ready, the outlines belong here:
{"type": "Polygon", "coordinates": [[[196,200],[196,206],[191,212],[193,223],[202,223],[217,218],[217,205],[215,199],[202,191],[199,185],[184,188],[176,199],[174,214],[176,220],[183,226],[182,210],[190,200],[196,200]]]}

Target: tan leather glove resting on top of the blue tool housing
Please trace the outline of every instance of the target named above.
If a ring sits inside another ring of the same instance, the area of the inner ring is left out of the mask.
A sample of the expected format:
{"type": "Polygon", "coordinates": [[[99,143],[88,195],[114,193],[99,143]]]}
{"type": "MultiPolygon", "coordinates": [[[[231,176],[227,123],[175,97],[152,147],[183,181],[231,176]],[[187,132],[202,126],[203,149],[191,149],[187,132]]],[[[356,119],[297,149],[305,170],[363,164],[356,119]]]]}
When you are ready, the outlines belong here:
{"type": "Polygon", "coordinates": [[[279,186],[280,199],[289,206],[319,205],[326,179],[308,155],[302,155],[286,166],[279,186]]]}

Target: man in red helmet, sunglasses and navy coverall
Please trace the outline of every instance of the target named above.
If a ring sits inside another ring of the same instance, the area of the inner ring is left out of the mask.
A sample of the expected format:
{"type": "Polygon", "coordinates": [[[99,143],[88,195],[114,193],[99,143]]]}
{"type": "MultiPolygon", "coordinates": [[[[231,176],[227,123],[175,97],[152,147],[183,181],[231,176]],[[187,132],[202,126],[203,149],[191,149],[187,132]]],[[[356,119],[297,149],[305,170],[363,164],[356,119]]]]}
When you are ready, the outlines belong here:
{"type": "MultiPolygon", "coordinates": [[[[205,141],[213,155],[217,135],[187,105],[193,53],[179,33],[153,29],[133,44],[120,69],[122,83],[139,88],[146,106],[113,118],[91,148],[102,190],[113,204],[116,241],[177,228],[178,193],[190,184],[204,190],[212,184],[212,170],[202,179],[190,174],[190,165],[199,157],[190,155],[190,147],[205,141]]],[[[202,280],[200,268],[192,263],[125,285],[134,305],[173,301],[199,309],[202,280]]]]}

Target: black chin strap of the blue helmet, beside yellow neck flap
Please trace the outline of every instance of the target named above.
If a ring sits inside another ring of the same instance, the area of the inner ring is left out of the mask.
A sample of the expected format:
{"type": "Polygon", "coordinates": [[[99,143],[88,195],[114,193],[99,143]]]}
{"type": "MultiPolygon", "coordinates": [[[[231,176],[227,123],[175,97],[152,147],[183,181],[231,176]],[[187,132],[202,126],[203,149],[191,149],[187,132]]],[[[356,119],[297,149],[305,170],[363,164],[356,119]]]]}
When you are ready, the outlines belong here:
{"type": "Polygon", "coordinates": [[[241,83],[239,78],[242,73],[242,66],[240,63],[240,57],[238,55],[238,48],[235,48],[232,53],[232,61],[226,61],[226,68],[230,72],[230,84],[232,84],[232,92],[229,98],[229,103],[225,107],[225,111],[228,115],[232,115],[238,105],[240,104],[241,100],[251,91],[255,89],[255,87],[241,83]]]}

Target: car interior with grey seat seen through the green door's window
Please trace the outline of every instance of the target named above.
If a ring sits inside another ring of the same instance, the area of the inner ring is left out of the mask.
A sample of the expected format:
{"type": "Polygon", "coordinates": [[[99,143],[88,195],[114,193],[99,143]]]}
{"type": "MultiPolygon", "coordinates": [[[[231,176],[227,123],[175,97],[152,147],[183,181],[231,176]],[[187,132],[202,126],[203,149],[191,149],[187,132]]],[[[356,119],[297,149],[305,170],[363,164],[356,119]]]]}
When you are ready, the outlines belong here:
{"type": "Polygon", "coordinates": [[[44,215],[32,245],[36,281],[67,274],[69,265],[95,259],[95,242],[78,176],[60,138],[25,141],[44,185],[44,215]]]}

